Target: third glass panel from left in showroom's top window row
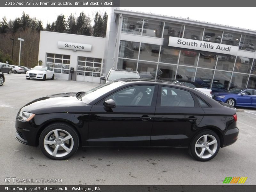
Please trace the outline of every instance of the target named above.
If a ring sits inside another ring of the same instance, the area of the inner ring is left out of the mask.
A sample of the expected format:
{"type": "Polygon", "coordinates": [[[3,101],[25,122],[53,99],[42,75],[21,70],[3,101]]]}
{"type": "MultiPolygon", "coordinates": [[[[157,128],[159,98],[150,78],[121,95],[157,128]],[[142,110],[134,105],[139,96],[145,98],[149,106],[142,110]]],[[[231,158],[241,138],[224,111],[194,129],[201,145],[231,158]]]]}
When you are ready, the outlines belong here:
{"type": "Polygon", "coordinates": [[[169,41],[169,36],[181,37],[182,33],[180,31],[183,31],[183,29],[184,25],[165,22],[163,38],[168,38],[169,41]]]}

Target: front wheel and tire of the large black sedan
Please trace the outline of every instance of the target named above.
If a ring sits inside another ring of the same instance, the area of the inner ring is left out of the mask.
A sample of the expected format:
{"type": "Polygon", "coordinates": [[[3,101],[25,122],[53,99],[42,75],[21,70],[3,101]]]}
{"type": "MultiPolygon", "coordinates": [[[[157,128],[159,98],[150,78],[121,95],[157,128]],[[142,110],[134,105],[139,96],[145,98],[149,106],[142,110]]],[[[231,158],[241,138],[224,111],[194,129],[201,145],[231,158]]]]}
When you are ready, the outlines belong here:
{"type": "Polygon", "coordinates": [[[66,123],[53,123],[48,125],[39,137],[39,147],[42,153],[50,159],[64,160],[73,156],[79,147],[79,137],[77,132],[66,123]],[[55,133],[58,134],[59,140],[55,133]],[[62,142],[61,140],[69,136],[70,138],[62,142]],[[44,141],[56,143],[45,144],[44,141]],[[58,146],[57,150],[55,149],[58,146]],[[64,149],[62,146],[65,146],[64,149]],[[70,150],[70,151],[69,151],[70,150]],[[54,154],[56,155],[54,156],[54,154]]]}

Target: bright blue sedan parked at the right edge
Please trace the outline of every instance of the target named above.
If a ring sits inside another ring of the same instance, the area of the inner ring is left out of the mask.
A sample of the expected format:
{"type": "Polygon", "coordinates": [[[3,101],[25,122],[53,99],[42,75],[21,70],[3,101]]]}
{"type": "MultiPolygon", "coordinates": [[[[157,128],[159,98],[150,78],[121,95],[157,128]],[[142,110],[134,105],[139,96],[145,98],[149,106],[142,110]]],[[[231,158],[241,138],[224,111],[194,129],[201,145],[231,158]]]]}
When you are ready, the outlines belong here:
{"type": "Polygon", "coordinates": [[[233,88],[227,92],[215,92],[212,98],[233,107],[256,107],[256,89],[233,88]]]}

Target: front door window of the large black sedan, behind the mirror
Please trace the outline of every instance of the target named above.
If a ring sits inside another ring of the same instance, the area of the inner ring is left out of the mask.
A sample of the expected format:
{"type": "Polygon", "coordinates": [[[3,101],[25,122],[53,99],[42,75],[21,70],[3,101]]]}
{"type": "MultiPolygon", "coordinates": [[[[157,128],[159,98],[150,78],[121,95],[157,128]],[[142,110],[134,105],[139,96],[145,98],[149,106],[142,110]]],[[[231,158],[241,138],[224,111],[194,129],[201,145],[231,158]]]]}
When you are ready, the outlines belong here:
{"type": "Polygon", "coordinates": [[[141,85],[125,88],[105,99],[113,99],[116,106],[150,106],[155,86],[141,85]]]}

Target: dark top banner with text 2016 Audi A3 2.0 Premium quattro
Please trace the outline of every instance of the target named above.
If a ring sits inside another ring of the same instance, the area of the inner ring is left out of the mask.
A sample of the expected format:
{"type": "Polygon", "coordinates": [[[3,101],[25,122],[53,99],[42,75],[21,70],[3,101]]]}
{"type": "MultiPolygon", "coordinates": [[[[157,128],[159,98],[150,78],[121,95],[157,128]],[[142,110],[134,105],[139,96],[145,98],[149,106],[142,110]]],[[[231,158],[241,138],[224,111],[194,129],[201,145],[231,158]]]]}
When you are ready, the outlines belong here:
{"type": "MultiPolygon", "coordinates": [[[[254,7],[256,1],[205,0],[1,0],[0,7],[254,7]]],[[[225,14],[223,13],[223,16],[225,14]]]]}

